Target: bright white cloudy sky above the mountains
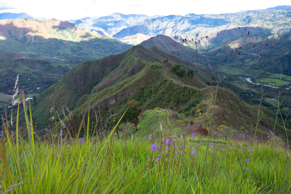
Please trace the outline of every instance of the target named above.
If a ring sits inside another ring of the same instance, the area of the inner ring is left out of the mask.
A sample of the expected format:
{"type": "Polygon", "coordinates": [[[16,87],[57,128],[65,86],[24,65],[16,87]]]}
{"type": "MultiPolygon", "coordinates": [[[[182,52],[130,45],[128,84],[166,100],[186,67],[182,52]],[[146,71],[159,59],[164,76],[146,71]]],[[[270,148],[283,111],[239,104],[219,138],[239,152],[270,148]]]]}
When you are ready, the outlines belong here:
{"type": "Polygon", "coordinates": [[[112,13],[153,15],[186,15],[235,13],[290,5],[290,0],[0,0],[0,13],[26,13],[34,17],[58,20],[106,16],[112,13]],[[235,3],[234,3],[235,2],[235,3]]]}

